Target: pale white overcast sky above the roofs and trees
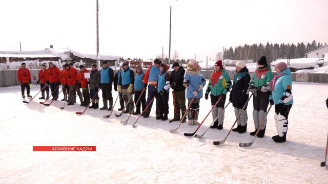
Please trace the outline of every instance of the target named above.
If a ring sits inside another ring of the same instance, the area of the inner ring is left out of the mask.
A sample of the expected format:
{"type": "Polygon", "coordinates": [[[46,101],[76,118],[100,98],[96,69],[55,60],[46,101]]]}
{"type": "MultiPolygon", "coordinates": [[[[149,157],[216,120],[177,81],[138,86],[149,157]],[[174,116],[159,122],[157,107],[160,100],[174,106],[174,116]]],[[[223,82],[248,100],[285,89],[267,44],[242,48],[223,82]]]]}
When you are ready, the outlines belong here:
{"type": "MultiPolygon", "coordinates": [[[[99,0],[100,53],[206,60],[245,43],[328,43],[327,0],[99,0]]],[[[0,51],[96,49],[96,0],[0,1],[0,51]]]]}

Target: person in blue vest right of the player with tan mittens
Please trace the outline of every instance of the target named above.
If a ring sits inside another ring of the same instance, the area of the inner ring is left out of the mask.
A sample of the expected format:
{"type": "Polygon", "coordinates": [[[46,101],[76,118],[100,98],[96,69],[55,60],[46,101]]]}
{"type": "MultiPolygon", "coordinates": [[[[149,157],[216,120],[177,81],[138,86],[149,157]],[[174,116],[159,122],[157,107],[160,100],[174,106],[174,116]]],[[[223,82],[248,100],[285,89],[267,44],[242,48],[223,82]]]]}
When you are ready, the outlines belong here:
{"type": "MultiPolygon", "coordinates": [[[[140,114],[140,106],[142,106],[142,111],[146,109],[146,91],[141,94],[142,90],[144,89],[144,72],[142,71],[141,65],[137,65],[135,68],[134,74],[134,103],[136,106],[136,110],[133,113],[134,115],[140,114]],[[141,97],[140,97],[141,95],[141,97]],[[139,102],[137,103],[138,99],[140,98],[139,102]]],[[[145,89],[146,90],[146,89],[145,89]]]]}

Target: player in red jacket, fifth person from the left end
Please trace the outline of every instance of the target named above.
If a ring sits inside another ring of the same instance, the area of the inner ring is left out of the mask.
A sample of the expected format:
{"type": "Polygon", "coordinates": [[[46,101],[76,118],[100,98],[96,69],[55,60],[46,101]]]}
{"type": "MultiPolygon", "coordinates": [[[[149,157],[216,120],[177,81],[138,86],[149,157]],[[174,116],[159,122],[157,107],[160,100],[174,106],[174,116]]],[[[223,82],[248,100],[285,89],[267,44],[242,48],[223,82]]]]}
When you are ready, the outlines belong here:
{"type": "Polygon", "coordinates": [[[80,102],[83,103],[83,97],[81,94],[80,89],[78,88],[78,73],[77,70],[73,67],[70,67],[69,65],[65,66],[66,71],[64,73],[66,82],[67,82],[67,86],[69,89],[69,103],[67,105],[74,105],[74,93],[76,91],[80,102]]]}

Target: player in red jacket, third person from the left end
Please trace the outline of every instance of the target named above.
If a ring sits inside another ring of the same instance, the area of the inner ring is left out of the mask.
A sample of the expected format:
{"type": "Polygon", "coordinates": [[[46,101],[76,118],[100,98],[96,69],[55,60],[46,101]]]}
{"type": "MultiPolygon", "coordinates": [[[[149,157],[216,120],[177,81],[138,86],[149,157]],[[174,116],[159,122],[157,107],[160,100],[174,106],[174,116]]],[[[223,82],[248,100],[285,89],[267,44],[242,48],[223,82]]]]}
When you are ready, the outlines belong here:
{"type": "Polygon", "coordinates": [[[47,70],[47,84],[50,85],[50,90],[52,95],[51,100],[58,99],[59,76],[60,76],[59,68],[56,67],[52,62],[49,62],[49,68],[47,70]]]}

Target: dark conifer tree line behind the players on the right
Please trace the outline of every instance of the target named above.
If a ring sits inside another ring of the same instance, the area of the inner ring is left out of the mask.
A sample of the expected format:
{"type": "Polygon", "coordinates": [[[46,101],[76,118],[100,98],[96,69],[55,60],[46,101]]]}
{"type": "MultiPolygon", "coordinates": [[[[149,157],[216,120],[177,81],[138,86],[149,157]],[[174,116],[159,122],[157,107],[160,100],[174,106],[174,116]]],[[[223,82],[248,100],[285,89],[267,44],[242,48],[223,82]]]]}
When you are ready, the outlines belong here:
{"type": "Polygon", "coordinates": [[[305,53],[311,52],[315,49],[323,47],[327,43],[320,43],[313,40],[311,43],[303,42],[297,43],[269,43],[266,45],[260,44],[245,44],[243,46],[238,46],[233,49],[230,47],[229,49],[224,49],[223,59],[253,59],[254,62],[258,61],[261,56],[266,56],[267,61],[270,63],[277,59],[287,59],[287,58],[304,58],[305,53]]]}

